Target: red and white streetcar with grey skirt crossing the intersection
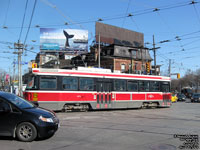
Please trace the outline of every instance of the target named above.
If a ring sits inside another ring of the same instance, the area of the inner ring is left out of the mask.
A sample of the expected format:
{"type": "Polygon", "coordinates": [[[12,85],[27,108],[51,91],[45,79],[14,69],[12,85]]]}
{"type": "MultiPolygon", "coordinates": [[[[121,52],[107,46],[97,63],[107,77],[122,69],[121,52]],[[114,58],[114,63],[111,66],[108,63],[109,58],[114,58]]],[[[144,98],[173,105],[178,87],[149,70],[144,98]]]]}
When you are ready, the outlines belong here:
{"type": "Polygon", "coordinates": [[[170,107],[170,78],[109,69],[34,68],[24,98],[51,110],[170,107]]]}

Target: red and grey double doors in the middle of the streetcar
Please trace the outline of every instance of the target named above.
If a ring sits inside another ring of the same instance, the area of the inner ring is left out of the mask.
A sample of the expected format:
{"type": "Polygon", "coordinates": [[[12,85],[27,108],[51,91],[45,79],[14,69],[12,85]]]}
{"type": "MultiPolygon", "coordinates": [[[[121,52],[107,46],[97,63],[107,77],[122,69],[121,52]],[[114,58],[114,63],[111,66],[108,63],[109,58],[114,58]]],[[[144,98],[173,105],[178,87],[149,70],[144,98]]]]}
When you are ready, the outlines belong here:
{"type": "Polygon", "coordinates": [[[97,108],[111,107],[111,82],[97,81],[97,108]]]}

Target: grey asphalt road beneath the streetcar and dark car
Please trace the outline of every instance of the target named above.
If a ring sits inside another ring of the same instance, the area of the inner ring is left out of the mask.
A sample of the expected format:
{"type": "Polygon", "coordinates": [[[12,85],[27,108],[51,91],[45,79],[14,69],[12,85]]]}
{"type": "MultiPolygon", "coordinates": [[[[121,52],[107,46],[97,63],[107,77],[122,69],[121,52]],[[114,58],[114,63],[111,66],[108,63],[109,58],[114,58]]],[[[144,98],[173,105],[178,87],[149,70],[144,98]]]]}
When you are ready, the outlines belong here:
{"type": "Polygon", "coordinates": [[[191,137],[199,146],[200,103],[57,115],[61,127],[53,137],[29,143],[0,137],[0,150],[174,150],[191,146],[191,137]]]}

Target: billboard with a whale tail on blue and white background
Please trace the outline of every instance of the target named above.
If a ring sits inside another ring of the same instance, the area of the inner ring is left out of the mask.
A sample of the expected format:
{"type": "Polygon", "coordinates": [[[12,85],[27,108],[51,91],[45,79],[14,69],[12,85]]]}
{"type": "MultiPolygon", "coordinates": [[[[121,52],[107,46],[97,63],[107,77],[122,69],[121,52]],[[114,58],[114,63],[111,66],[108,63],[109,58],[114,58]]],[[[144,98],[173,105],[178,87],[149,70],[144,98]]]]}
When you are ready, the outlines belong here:
{"type": "Polygon", "coordinates": [[[88,51],[88,31],[40,28],[40,50],[88,51]]]}

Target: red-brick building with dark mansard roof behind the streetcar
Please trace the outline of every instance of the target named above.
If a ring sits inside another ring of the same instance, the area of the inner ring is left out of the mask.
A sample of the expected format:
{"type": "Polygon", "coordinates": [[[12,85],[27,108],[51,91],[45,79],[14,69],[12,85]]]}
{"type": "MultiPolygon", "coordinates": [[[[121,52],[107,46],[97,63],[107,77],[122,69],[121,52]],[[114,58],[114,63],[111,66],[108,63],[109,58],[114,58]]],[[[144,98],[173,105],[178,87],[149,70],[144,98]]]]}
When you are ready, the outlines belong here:
{"type": "MultiPolygon", "coordinates": [[[[147,49],[119,45],[101,46],[100,55],[101,68],[124,73],[147,74],[146,64],[152,61],[147,49]]],[[[72,64],[98,67],[97,45],[90,53],[72,58],[72,64]]]]}

